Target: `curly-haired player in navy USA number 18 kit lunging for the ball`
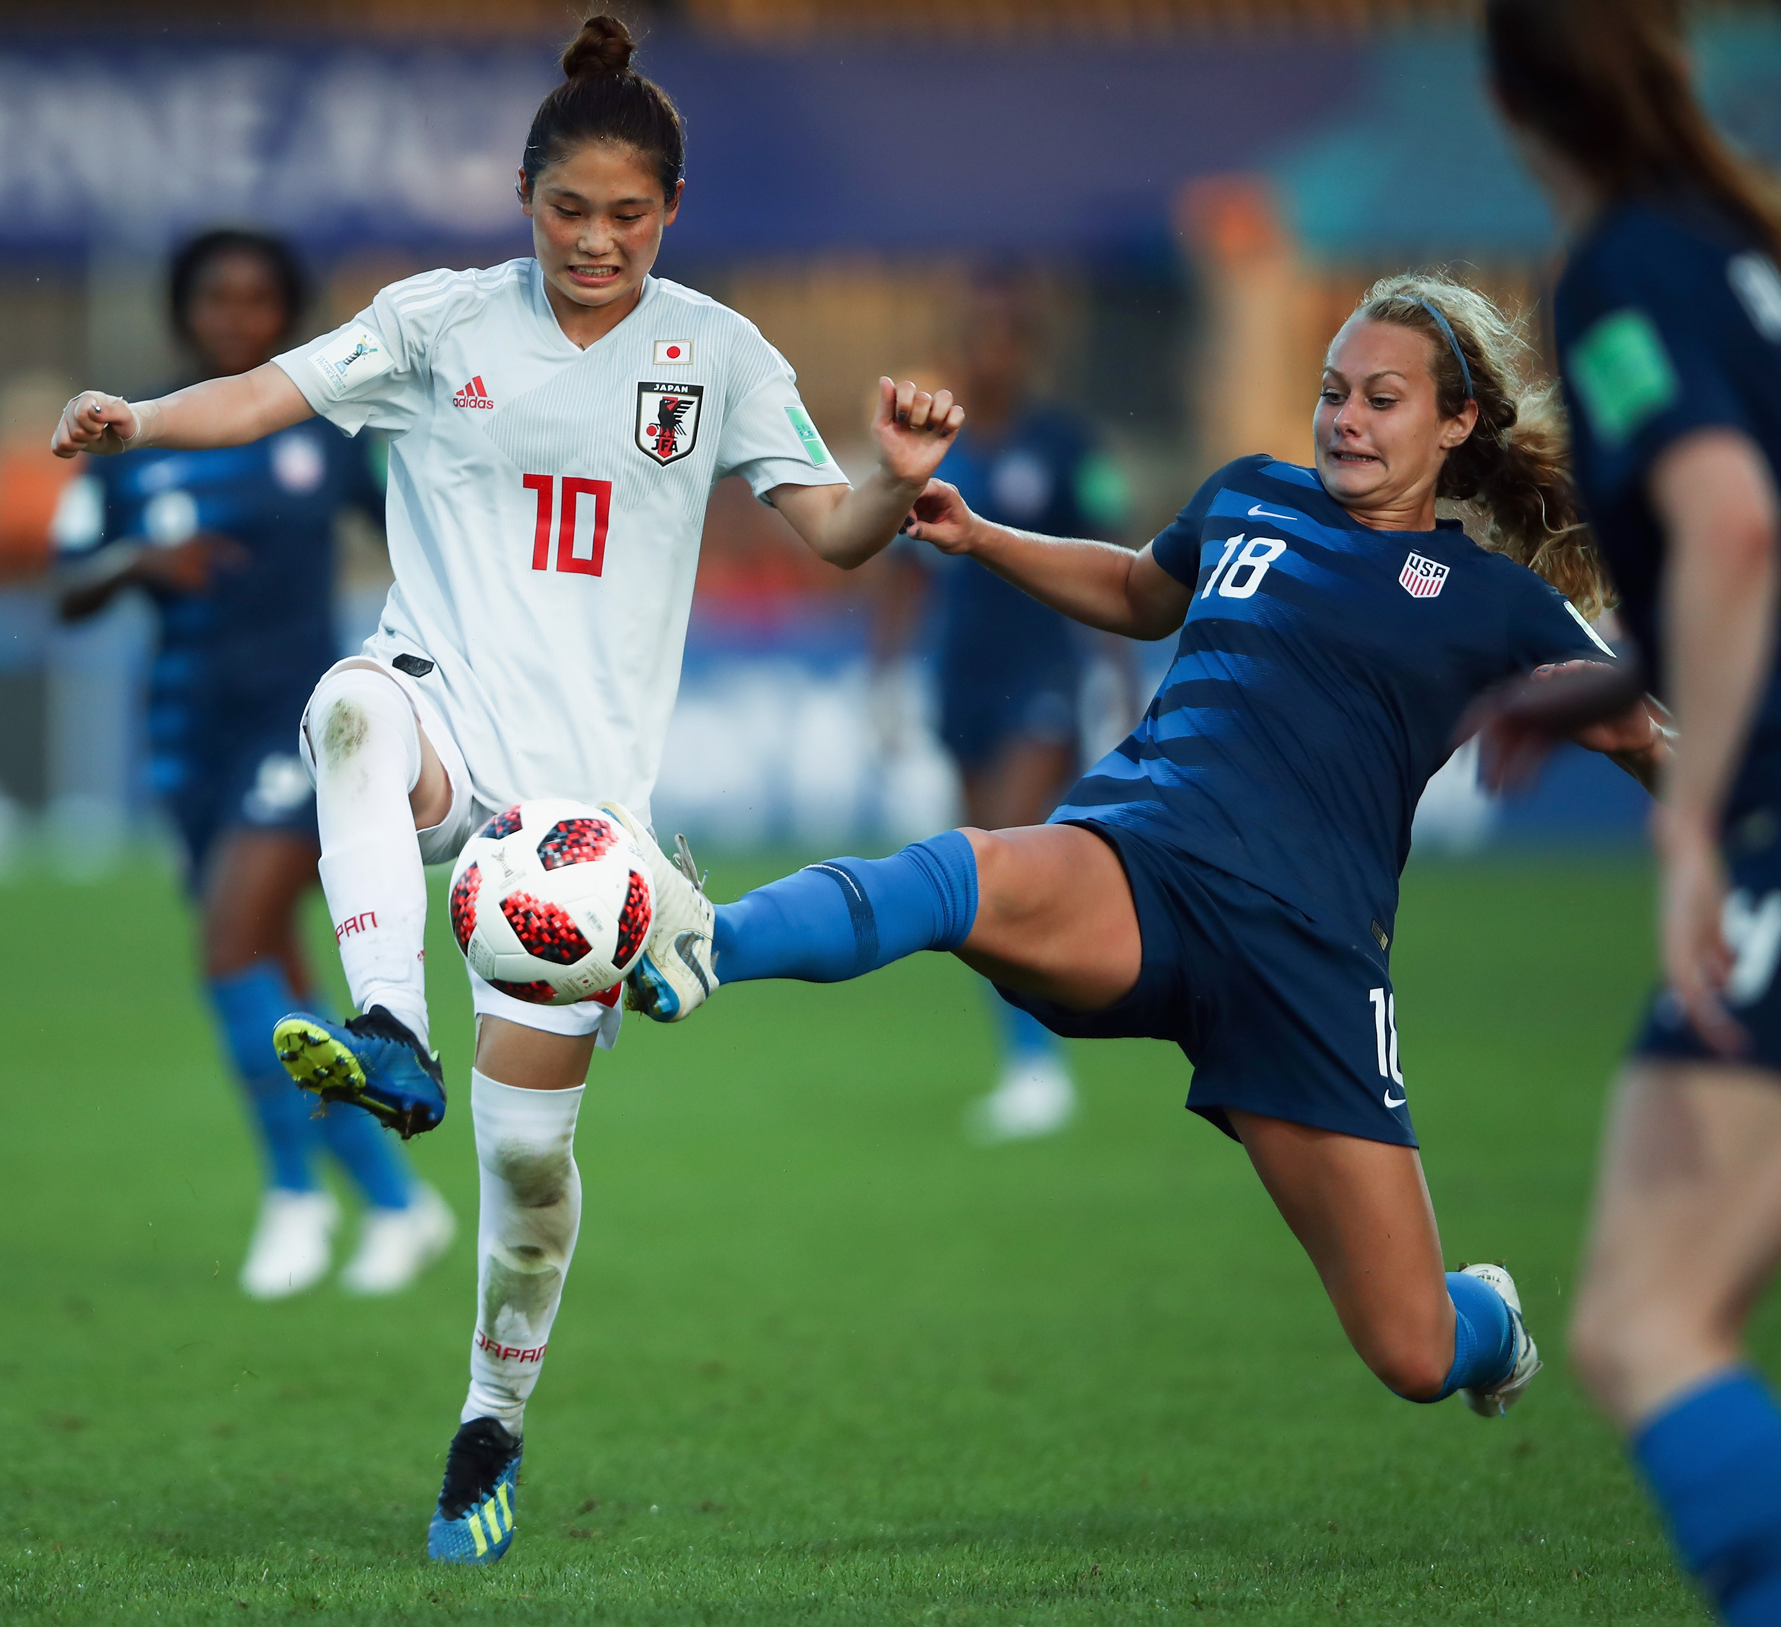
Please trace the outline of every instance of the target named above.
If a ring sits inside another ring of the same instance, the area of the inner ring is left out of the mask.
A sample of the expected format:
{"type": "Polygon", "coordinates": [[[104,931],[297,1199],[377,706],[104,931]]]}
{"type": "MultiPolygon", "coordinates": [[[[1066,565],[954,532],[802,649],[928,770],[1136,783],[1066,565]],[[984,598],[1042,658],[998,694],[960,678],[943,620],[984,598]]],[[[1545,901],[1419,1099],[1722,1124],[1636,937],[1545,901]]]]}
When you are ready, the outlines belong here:
{"type": "MultiPolygon", "coordinates": [[[[1092,627],[1179,627],[1163,687],[1049,824],[775,881],[711,910],[707,940],[652,940],[638,1002],[675,1020],[716,984],[944,949],[1054,1032],[1172,1040],[1188,1107],[1243,1143],[1371,1371],[1501,1413],[1539,1356],[1507,1271],[1444,1269],[1389,949],[1416,803],[1468,707],[1606,650],[1523,351],[1473,288],[1375,285],[1329,349],[1316,466],[1241,457],[1138,554],[988,525],[931,484],[917,538],[1092,627]]],[[[1665,749],[1642,700],[1583,742],[1642,778],[1665,749]]]]}

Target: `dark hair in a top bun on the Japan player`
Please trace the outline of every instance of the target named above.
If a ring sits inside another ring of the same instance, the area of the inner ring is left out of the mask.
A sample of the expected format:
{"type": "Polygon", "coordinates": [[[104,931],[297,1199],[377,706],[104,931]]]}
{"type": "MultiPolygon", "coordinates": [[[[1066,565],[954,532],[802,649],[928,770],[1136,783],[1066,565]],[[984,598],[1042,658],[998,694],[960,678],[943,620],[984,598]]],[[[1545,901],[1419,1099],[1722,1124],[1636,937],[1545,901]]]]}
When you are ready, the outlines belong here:
{"type": "Polygon", "coordinates": [[[525,137],[525,190],[538,173],[586,141],[636,148],[673,203],[686,176],[686,125],[668,93],[630,68],[636,41],[618,18],[597,12],[563,46],[563,84],[540,103],[525,137]]]}

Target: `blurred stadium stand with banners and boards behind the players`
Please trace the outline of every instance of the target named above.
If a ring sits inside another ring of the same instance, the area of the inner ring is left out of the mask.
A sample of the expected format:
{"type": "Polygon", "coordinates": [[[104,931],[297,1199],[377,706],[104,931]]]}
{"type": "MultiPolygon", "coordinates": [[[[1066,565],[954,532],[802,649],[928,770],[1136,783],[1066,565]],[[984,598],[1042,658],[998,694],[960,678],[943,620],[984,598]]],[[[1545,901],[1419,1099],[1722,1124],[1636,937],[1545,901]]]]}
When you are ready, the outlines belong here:
{"type": "MultiPolygon", "coordinates": [[[[1133,538],[1236,452],[1307,456],[1323,342],[1373,276],[1466,262],[1537,322],[1551,224],[1491,117],[1469,0],[618,9],[689,119],[661,269],[760,324],[844,465],[869,456],[882,370],[947,376],[985,263],[1031,281],[1047,384],[1099,420],[1133,538]],[[894,139],[899,121],[931,139],[894,139]]],[[[525,253],[511,176],[572,21],[561,0],[0,9],[0,830],[20,805],[123,828],[142,803],[118,746],[139,619],[73,639],[37,584],[68,474],[43,456],[55,404],[176,376],[160,269],[194,228],[296,239],[317,329],[394,278],[525,253]]],[[[1697,59],[1720,121],[1781,158],[1774,7],[1708,9],[1697,59]]],[[[347,557],[342,621],[362,627],[378,564],[363,539],[347,557]]],[[[871,692],[869,589],[720,490],[664,814],[737,842],[951,817],[919,684],[871,692]]],[[[1637,824],[1601,765],[1551,783],[1500,819],[1446,787],[1428,830],[1637,824]]]]}

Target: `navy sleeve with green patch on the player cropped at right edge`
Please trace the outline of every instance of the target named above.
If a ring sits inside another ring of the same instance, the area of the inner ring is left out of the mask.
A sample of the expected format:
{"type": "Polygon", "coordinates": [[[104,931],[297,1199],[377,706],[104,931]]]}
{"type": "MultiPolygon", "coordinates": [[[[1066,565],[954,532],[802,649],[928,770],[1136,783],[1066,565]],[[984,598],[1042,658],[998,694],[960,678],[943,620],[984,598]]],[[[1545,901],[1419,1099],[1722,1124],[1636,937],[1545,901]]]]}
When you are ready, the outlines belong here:
{"type": "Polygon", "coordinates": [[[1598,255],[1574,290],[1601,312],[1560,361],[1573,415],[1590,440],[1590,488],[1608,504],[1697,429],[1756,434],[1724,358],[1761,345],[1724,276],[1706,281],[1662,255],[1598,255]],[[1717,285],[1715,285],[1717,283],[1717,285]]]}

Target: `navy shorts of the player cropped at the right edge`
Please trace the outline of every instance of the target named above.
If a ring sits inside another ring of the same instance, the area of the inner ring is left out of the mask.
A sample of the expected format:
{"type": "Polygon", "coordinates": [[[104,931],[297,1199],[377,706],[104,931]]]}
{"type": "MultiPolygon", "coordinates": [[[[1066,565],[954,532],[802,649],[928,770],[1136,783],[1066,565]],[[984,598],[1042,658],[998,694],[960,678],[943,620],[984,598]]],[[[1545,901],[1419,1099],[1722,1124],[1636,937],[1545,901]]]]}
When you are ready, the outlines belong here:
{"type": "Polygon", "coordinates": [[[1751,1048],[1726,1057],[1688,1025],[1676,997],[1658,988],[1633,1040],[1631,1056],[1671,1063],[1729,1063],[1781,1073],[1781,819],[1769,810],[1740,819],[1726,840],[1729,892],[1726,945],[1736,956],[1726,983],[1726,1009],[1751,1036],[1751,1048]]]}

